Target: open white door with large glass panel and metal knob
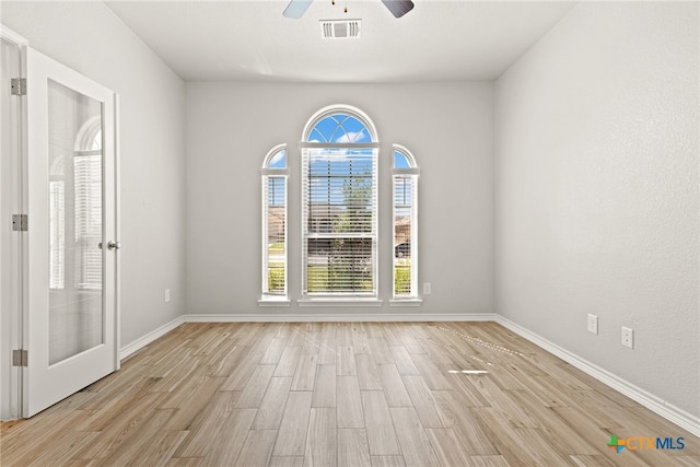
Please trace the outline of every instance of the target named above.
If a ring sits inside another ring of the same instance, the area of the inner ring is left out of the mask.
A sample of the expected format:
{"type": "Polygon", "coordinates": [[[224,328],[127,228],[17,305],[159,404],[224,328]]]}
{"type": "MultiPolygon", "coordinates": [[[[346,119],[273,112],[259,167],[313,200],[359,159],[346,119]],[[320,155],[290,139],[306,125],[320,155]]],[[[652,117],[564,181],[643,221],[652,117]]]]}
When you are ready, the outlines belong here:
{"type": "Polygon", "coordinates": [[[119,366],[114,92],[27,50],[31,417],[119,366]]]}

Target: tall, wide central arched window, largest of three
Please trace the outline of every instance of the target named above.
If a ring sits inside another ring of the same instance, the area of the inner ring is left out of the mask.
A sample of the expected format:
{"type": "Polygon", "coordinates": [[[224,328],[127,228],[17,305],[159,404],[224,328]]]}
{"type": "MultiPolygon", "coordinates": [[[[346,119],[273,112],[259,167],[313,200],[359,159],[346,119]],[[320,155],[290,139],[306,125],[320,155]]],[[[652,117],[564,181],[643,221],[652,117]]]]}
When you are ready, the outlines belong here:
{"type": "Polygon", "coordinates": [[[376,299],[377,154],[359,109],[320,109],[302,137],[303,296],[376,299]]]}

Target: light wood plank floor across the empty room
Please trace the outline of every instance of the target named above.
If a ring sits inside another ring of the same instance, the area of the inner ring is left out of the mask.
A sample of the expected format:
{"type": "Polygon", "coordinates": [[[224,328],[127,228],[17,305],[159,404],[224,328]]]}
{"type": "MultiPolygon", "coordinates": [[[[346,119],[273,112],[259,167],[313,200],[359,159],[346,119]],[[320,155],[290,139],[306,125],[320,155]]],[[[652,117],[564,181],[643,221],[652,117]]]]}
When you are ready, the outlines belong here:
{"type": "Polygon", "coordinates": [[[492,323],[186,324],[1,428],[2,466],[700,465],[697,437],[492,323]]]}

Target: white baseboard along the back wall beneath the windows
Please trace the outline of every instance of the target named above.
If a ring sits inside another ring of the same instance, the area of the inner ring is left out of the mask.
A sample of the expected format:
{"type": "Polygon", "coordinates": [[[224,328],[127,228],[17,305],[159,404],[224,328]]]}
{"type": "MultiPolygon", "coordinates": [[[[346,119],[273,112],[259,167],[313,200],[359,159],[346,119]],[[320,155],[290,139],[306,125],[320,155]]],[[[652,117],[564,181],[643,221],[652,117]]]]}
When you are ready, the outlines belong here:
{"type": "Polygon", "coordinates": [[[350,314],[350,313],[299,313],[269,314],[250,313],[235,315],[185,315],[185,323],[338,323],[338,322],[493,322],[492,313],[479,314],[350,314]]]}

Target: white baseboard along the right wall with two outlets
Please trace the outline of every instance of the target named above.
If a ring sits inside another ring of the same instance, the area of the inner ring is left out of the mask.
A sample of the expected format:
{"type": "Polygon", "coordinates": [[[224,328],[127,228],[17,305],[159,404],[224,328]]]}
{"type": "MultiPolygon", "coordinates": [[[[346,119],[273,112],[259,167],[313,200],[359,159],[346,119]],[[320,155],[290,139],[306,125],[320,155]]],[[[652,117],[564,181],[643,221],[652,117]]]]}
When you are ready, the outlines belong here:
{"type": "Polygon", "coordinates": [[[641,404],[646,407],[649,410],[657,413],[658,416],[665,418],[672,423],[677,424],[684,430],[689,431],[696,436],[700,436],[700,417],[696,417],[692,413],[688,413],[678,407],[675,407],[668,404],[666,400],[663,400],[651,393],[629,383],[628,381],[622,380],[621,377],[608,372],[595,365],[581,357],[570,352],[569,350],[557,346],[553,342],[532,332],[524,327],[513,323],[512,320],[504,318],[500,315],[494,315],[495,323],[501,326],[512,330],[524,339],[529,340],[534,345],[545,349],[549,353],[559,357],[564,362],[575,366],[582,372],[586,373],[590,376],[598,380],[603,384],[611,387],[629,397],[630,399],[641,404]]]}

